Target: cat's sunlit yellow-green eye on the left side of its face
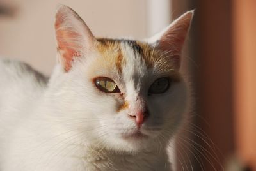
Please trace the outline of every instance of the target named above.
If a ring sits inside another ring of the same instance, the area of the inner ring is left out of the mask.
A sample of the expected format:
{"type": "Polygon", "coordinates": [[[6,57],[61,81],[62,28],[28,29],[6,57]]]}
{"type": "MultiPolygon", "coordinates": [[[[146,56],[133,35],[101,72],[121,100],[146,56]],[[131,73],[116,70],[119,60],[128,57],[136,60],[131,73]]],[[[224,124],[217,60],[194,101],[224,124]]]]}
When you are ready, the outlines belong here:
{"type": "Polygon", "coordinates": [[[105,93],[118,93],[119,88],[113,80],[107,77],[99,77],[95,79],[95,85],[100,91],[105,93]]]}

